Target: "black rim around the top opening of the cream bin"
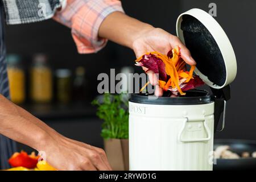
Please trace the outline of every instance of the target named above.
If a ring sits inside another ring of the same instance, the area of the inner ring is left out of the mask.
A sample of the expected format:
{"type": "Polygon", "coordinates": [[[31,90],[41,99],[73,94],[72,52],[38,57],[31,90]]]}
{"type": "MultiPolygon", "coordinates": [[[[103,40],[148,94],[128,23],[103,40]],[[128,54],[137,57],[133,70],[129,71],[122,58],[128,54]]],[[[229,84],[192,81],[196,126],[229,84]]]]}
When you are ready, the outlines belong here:
{"type": "Polygon", "coordinates": [[[131,94],[130,102],[150,105],[201,105],[213,102],[213,96],[207,90],[193,89],[180,97],[155,97],[152,94],[131,94]]]}

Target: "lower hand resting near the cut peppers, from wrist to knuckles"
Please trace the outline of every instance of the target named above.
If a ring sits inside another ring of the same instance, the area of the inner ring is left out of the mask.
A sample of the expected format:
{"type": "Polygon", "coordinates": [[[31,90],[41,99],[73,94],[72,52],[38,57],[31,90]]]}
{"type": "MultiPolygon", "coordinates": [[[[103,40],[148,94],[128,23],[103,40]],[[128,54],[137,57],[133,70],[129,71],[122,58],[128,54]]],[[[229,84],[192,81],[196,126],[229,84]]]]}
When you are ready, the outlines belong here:
{"type": "Polygon", "coordinates": [[[105,151],[61,135],[47,142],[46,161],[58,170],[112,170],[105,151]]]}

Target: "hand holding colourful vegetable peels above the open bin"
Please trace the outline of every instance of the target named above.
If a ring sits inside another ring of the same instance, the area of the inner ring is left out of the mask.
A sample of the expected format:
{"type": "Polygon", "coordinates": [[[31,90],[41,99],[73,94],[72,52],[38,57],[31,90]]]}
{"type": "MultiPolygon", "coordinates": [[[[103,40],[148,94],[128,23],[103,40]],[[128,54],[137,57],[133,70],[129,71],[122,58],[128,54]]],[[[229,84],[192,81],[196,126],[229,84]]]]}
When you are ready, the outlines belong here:
{"type": "MultiPolygon", "coordinates": [[[[195,65],[196,61],[192,58],[191,53],[181,43],[180,39],[177,36],[171,35],[168,32],[162,30],[161,28],[154,28],[147,26],[145,30],[138,33],[137,38],[133,42],[133,50],[136,57],[144,55],[146,52],[157,51],[164,55],[179,46],[181,58],[189,65],[195,65]]],[[[143,67],[144,71],[147,71],[147,68],[143,67]]],[[[155,96],[162,96],[163,90],[158,85],[158,77],[152,71],[147,71],[148,77],[152,85],[155,86],[155,96]]]]}

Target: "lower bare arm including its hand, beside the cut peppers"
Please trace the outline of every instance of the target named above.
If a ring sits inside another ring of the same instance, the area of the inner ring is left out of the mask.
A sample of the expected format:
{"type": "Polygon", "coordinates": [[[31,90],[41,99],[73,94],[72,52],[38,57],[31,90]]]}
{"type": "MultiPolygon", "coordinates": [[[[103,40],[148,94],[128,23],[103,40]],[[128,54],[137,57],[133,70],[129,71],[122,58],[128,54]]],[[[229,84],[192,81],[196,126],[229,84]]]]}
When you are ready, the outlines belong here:
{"type": "Polygon", "coordinates": [[[109,170],[104,150],[68,139],[0,95],[0,134],[44,151],[59,170],[109,170]]]}

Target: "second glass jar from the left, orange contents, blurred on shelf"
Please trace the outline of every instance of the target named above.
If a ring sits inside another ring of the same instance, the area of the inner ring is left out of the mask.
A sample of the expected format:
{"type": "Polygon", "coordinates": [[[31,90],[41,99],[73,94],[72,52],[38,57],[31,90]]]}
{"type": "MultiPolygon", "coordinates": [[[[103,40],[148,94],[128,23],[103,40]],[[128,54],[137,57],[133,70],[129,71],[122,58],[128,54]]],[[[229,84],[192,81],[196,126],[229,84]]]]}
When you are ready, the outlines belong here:
{"type": "Polygon", "coordinates": [[[52,101],[52,71],[47,56],[37,54],[33,57],[30,70],[30,96],[34,102],[52,101]]]}

